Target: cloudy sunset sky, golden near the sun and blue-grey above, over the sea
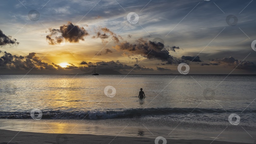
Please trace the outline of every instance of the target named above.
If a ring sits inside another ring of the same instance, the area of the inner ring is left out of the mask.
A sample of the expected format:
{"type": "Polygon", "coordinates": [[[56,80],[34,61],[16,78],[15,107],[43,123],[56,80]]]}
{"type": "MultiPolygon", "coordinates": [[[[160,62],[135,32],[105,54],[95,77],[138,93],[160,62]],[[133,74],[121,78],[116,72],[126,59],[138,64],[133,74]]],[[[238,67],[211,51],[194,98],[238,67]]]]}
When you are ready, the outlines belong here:
{"type": "Polygon", "coordinates": [[[256,74],[255,5],[1,1],[0,74],[256,74]]]}

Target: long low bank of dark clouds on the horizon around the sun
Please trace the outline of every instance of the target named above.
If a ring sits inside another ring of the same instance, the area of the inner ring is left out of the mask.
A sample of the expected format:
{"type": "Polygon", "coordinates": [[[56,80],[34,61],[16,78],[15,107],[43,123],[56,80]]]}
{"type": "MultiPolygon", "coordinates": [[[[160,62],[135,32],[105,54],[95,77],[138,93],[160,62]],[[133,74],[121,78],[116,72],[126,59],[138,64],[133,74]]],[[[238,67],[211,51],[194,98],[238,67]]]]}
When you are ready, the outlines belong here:
{"type": "MultiPolygon", "coordinates": [[[[109,51],[109,50],[107,50],[109,51]]],[[[154,69],[152,68],[146,68],[145,66],[139,66],[137,64],[133,66],[129,66],[126,64],[122,64],[119,61],[101,61],[101,62],[85,62],[82,61],[79,63],[79,67],[75,66],[72,63],[69,63],[69,65],[66,68],[62,68],[60,65],[55,64],[55,63],[45,63],[43,62],[40,57],[37,57],[35,52],[29,53],[27,56],[16,56],[12,55],[11,53],[8,52],[2,52],[0,51],[1,54],[3,54],[2,57],[0,57],[0,69],[6,69],[6,70],[30,70],[30,69],[35,69],[35,70],[65,70],[65,69],[74,69],[74,70],[82,70],[84,72],[89,72],[92,71],[94,66],[97,67],[97,70],[100,70],[102,73],[104,71],[113,72],[118,71],[122,72],[125,70],[149,70],[152,71],[154,69]]]]}

